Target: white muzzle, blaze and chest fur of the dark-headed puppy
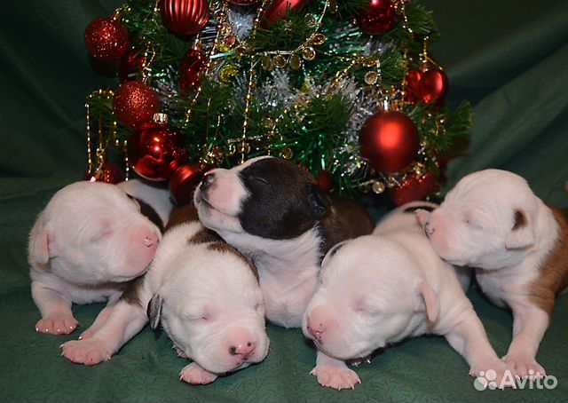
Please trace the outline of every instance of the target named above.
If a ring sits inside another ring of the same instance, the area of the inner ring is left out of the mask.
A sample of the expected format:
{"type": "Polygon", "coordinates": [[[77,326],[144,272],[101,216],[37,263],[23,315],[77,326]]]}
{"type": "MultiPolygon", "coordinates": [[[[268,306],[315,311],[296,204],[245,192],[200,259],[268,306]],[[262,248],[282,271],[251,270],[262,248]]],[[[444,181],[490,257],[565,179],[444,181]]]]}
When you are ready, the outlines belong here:
{"type": "Polygon", "coordinates": [[[251,257],[258,269],[266,304],[266,317],[286,328],[299,328],[302,315],[317,284],[319,235],[315,230],[285,241],[264,239],[246,233],[237,215],[249,195],[239,171],[269,156],[244,162],[231,170],[217,169],[213,192],[204,202],[198,187],[195,207],[203,225],[217,232],[227,243],[251,257]]]}

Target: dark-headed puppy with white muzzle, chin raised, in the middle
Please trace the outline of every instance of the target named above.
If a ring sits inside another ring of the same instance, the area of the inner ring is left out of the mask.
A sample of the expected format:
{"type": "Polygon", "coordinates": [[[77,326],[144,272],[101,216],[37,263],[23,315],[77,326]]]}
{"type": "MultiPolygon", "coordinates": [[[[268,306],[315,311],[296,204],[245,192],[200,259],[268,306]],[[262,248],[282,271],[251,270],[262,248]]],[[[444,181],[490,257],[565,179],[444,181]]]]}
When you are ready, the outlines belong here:
{"type": "Polygon", "coordinates": [[[301,326],[327,249],[374,227],[355,202],[330,199],[295,164],[266,156],[209,171],[194,203],[203,225],[254,260],[266,316],[286,328],[301,326]]]}

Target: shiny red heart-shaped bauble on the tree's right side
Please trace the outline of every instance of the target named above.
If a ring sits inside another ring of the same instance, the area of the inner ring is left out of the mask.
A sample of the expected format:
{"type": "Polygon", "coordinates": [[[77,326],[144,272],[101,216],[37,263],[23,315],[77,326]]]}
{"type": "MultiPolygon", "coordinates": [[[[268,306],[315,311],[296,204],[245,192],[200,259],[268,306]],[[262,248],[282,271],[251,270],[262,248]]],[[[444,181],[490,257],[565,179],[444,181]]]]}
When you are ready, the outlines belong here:
{"type": "Polygon", "coordinates": [[[449,81],[442,70],[410,70],[406,75],[406,100],[413,104],[430,102],[438,107],[446,100],[449,81]]]}

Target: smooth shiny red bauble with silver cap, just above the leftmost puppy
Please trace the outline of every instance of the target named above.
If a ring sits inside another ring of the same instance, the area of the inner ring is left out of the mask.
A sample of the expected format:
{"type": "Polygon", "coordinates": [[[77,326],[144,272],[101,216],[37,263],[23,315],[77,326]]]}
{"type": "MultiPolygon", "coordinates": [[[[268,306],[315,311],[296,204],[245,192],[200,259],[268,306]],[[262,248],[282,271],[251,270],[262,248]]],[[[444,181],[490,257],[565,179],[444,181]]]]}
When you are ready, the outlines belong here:
{"type": "Polygon", "coordinates": [[[185,138],[166,123],[144,123],[130,136],[128,159],[142,178],[167,180],[187,160],[185,138]]]}

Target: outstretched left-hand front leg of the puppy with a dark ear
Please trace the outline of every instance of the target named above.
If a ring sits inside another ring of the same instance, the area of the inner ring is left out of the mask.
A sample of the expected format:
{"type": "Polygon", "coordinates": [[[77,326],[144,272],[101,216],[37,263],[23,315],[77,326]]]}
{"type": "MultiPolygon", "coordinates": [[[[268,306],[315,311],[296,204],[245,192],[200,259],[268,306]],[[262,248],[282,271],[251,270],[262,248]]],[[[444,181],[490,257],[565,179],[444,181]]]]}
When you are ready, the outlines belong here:
{"type": "Polygon", "coordinates": [[[62,344],[61,355],[85,365],[110,360],[114,352],[118,352],[123,344],[144,328],[147,321],[146,312],[141,305],[119,301],[94,335],[62,344]]]}

